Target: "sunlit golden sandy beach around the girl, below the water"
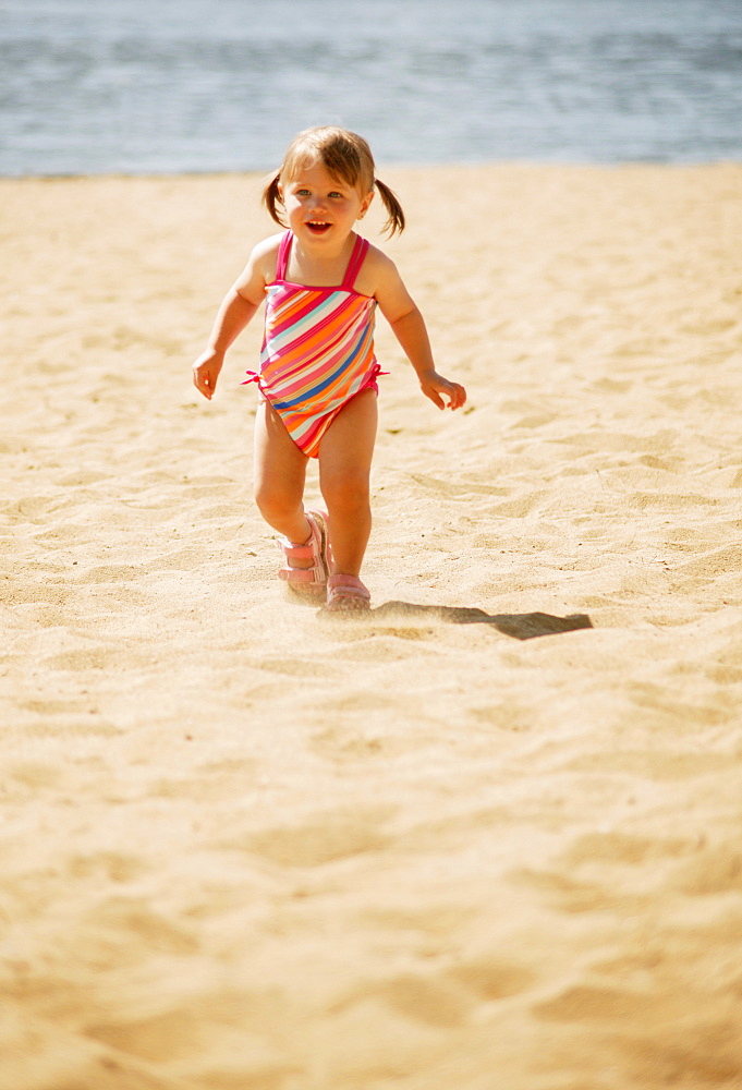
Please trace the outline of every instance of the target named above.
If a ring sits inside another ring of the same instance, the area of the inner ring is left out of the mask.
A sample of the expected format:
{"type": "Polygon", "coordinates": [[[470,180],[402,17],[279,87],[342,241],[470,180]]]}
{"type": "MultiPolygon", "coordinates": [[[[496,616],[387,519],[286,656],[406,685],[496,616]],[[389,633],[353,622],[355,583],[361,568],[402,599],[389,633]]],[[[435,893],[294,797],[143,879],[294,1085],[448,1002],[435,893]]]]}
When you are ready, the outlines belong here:
{"type": "Polygon", "coordinates": [[[260,179],[0,181],[0,1090],[742,1088],[742,165],[379,174],[363,620],[191,385],[260,179]]]}

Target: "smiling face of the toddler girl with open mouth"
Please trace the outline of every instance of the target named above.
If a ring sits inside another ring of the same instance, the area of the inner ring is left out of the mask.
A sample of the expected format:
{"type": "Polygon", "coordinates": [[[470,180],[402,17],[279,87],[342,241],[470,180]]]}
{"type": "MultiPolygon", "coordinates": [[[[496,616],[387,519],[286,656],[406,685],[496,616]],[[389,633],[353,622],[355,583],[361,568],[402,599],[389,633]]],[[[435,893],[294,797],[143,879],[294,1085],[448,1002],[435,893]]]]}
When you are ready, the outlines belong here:
{"type": "Polygon", "coordinates": [[[313,247],[321,245],[328,253],[340,250],[374,198],[373,191],[363,194],[333,178],[319,160],[301,167],[279,189],[289,227],[296,238],[313,247]]]}

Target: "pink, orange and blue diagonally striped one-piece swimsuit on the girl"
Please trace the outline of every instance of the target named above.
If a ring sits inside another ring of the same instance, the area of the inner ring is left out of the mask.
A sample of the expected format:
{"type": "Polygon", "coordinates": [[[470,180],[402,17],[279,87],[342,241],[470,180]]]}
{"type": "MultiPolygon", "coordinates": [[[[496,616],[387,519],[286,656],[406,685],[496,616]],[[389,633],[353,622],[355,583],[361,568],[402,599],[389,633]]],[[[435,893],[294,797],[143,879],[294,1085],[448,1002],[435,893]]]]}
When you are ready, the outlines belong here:
{"type": "MultiPolygon", "coordinates": [[[[356,237],[342,284],[306,288],[285,279],[293,234],[281,239],[276,279],[266,288],[260,367],[248,371],[297,447],[316,458],[328,427],[351,398],[376,390],[376,300],[353,284],[368,242],[356,237]]],[[[247,385],[244,383],[243,385],[247,385]]]]}

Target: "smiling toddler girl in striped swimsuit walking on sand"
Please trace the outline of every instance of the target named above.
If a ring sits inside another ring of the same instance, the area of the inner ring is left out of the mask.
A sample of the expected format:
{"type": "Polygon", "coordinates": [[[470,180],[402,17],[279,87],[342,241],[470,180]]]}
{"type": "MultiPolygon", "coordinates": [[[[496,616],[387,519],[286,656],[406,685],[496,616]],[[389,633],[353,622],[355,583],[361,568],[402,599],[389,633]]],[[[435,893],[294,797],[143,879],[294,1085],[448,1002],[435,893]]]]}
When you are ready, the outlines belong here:
{"type": "Polygon", "coordinates": [[[375,178],[361,136],[336,128],[300,133],[263,195],[288,230],[255,247],[193,365],[196,388],[210,399],[227,350],[266,300],[259,374],[247,372],[260,391],[255,499],[280,535],[280,578],[329,610],[369,607],[360,573],[370,533],[377,304],[423,393],[439,409],[466,400],[462,386],[436,372],[423,317],[394,264],[353,230],[375,190],[388,213],[385,229],[402,231],[402,208],[375,178]],[[319,462],[327,513],[304,510],[309,458],[319,462]]]}

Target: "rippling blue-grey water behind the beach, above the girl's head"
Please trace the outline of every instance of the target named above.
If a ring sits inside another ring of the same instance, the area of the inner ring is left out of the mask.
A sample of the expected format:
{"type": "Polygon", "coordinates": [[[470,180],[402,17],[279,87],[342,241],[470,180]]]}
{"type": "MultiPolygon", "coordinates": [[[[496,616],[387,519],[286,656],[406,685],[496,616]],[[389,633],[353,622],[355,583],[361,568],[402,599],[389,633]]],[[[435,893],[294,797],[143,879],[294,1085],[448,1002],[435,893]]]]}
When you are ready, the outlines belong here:
{"type": "Polygon", "coordinates": [[[742,0],[0,0],[0,174],[742,159],[742,0]]]}

